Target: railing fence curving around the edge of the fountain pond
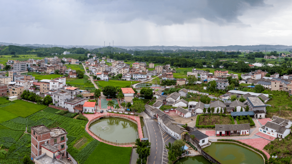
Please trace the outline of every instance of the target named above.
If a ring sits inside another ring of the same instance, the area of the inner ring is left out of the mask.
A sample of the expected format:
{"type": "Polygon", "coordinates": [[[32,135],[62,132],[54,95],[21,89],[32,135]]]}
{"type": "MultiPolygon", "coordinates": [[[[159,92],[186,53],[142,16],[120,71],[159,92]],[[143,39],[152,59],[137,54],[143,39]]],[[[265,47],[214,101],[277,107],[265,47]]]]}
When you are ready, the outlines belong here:
{"type": "MultiPolygon", "coordinates": [[[[138,125],[138,122],[135,119],[131,118],[130,116],[120,116],[119,114],[112,114],[112,115],[109,115],[109,116],[102,115],[102,116],[95,117],[91,121],[89,121],[87,125],[89,127],[92,122],[94,122],[96,120],[99,120],[100,118],[109,118],[109,117],[125,118],[125,119],[128,119],[128,120],[130,120],[130,121],[132,121],[132,122],[134,122],[134,123],[136,123],[138,125]]],[[[88,130],[89,130],[89,128],[88,128],[88,130]]],[[[96,138],[102,140],[102,142],[113,144],[113,145],[133,145],[133,144],[136,143],[136,142],[127,142],[127,143],[111,142],[111,141],[108,141],[106,139],[100,138],[98,135],[94,134],[91,130],[89,130],[89,132],[91,132],[91,134],[94,135],[96,138]]]]}

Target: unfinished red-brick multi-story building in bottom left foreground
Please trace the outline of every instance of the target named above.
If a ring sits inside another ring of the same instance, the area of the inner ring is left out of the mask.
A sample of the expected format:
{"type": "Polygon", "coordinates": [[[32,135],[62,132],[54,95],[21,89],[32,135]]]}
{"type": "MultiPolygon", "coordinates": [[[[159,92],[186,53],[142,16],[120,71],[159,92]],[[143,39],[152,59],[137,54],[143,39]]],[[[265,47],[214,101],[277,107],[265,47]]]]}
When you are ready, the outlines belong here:
{"type": "Polygon", "coordinates": [[[45,125],[32,126],[31,158],[34,162],[38,164],[63,163],[60,160],[66,157],[67,134],[66,130],[60,127],[49,129],[45,125]]]}

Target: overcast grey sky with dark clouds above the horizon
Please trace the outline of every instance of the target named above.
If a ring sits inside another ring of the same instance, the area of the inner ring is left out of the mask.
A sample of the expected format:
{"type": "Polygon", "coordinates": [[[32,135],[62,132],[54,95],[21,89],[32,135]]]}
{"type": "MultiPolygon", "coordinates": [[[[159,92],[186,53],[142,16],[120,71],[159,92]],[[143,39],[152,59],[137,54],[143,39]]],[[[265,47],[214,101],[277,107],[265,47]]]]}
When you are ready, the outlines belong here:
{"type": "Polygon", "coordinates": [[[9,0],[0,42],[291,46],[291,0],[9,0]]]}

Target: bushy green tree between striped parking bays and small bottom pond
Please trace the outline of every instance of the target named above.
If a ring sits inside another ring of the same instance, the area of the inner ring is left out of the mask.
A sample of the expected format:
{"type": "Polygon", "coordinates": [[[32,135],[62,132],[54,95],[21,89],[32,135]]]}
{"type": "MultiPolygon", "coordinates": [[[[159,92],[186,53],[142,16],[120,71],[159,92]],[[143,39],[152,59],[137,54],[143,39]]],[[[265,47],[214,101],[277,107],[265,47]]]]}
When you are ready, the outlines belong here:
{"type": "Polygon", "coordinates": [[[178,157],[181,156],[183,153],[183,146],[185,145],[185,142],[182,139],[175,140],[173,144],[168,142],[168,146],[165,146],[166,149],[168,149],[168,163],[173,163],[178,157]]]}

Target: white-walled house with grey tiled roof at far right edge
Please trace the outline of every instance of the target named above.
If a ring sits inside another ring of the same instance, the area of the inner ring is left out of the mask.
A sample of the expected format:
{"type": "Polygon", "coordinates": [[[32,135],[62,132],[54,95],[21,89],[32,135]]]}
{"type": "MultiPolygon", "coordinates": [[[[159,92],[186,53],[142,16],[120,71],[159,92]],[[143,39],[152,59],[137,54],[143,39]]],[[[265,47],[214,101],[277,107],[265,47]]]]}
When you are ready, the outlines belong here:
{"type": "Polygon", "coordinates": [[[291,130],[284,125],[273,123],[271,121],[268,121],[265,125],[259,127],[258,130],[261,133],[275,138],[285,138],[291,132],[291,130]]]}

